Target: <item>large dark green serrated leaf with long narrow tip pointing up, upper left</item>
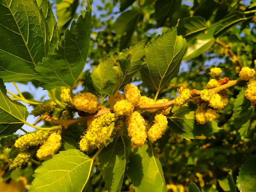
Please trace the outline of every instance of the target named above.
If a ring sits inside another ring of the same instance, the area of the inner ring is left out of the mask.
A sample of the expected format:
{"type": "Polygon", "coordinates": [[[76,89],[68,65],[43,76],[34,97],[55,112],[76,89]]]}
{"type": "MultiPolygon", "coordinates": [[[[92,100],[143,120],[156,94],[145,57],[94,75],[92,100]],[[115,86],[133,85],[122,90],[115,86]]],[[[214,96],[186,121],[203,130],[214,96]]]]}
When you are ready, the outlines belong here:
{"type": "Polygon", "coordinates": [[[56,86],[73,87],[83,72],[90,45],[91,5],[88,3],[85,17],[80,16],[66,30],[61,45],[48,54],[36,68],[36,79],[44,89],[56,86]]]}

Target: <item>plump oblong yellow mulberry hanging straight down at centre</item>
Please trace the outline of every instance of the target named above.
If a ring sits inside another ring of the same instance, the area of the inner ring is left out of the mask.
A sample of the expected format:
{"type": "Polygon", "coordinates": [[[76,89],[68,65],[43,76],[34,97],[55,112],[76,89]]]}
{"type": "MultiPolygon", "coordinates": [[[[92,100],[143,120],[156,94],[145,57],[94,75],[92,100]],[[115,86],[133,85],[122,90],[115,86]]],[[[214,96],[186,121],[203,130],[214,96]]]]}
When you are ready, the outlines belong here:
{"type": "Polygon", "coordinates": [[[147,134],[145,127],[145,120],[137,111],[132,112],[126,118],[126,126],[128,135],[131,137],[131,143],[135,147],[141,147],[146,142],[147,134]]]}

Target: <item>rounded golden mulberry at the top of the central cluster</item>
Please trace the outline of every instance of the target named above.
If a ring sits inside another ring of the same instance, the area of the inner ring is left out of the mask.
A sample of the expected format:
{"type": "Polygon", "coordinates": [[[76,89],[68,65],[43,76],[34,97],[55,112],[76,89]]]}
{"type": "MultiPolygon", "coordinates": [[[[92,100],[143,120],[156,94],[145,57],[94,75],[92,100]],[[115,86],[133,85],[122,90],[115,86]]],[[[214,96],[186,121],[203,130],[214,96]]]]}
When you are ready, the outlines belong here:
{"type": "Polygon", "coordinates": [[[141,98],[138,87],[133,84],[127,84],[124,87],[124,95],[125,99],[132,103],[133,106],[138,105],[141,98]]]}

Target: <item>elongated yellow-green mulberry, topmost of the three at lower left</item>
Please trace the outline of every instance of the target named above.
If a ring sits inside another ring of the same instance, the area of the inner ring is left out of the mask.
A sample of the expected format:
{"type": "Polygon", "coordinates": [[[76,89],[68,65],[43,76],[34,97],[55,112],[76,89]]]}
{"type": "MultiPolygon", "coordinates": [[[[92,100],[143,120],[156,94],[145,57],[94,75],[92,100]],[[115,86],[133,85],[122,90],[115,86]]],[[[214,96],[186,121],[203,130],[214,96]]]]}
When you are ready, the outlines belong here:
{"type": "Polygon", "coordinates": [[[29,146],[37,146],[43,144],[44,141],[48,138],[49,132],[39,130],[36,132],[28,133],[23,136],[20,136],[14,143],[16,148],[25,149],[29,146]]]}

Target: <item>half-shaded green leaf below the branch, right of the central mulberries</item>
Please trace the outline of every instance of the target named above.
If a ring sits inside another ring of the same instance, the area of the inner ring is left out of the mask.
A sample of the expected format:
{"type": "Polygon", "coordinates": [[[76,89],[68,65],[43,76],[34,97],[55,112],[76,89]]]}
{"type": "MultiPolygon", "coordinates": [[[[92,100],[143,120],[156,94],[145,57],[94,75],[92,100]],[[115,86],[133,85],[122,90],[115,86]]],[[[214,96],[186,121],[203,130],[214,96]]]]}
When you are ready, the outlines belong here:
{"type": "Polygon", "coordinates": [[[215,121],[209,121],[200,125],[195,121],[195,105],[183,105],[182,107],[173,107],[173,116],[169,119],[169,126],[181,138],[195,139],[196,136],[210,136],[220,129],[215,121]]]}

